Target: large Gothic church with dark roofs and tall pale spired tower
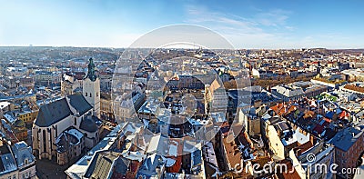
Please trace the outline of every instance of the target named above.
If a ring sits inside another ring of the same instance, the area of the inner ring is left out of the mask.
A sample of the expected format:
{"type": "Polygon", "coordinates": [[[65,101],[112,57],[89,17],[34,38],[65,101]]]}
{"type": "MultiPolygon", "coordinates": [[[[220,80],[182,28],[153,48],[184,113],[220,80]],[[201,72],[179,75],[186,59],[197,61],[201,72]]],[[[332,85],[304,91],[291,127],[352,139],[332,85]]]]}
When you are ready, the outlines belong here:
{"type": "Polygon", "coordinates": [[[99,141],[100,80],[94,60],[89,59],[82,94],[70,94],[42,105],[33,128],[33,154],[67,164],[99,141]]]}

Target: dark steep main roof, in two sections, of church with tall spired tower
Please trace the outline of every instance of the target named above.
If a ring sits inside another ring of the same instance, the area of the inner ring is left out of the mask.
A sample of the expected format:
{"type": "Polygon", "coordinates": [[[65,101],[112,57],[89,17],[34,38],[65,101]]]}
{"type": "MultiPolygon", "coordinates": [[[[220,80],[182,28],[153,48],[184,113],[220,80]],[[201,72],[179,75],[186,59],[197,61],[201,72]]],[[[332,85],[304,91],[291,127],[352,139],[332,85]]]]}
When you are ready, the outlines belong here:
{"type": "MultiPolygon", "coordinates": [[[[70,99],[70,104],[79,114],[85,114],[87,111],[92,109],[92,106],[87,103],[82,94],[72,94],[68,97],[70,99]]],[[[68,106],[66,98],[62,98],[55,102],[42,105],[39,109],[38,115],[36,116],[35,125],[47,127],[52,124],[56,124],[70,114],[72,114],[72,111],[68,106]]]]}

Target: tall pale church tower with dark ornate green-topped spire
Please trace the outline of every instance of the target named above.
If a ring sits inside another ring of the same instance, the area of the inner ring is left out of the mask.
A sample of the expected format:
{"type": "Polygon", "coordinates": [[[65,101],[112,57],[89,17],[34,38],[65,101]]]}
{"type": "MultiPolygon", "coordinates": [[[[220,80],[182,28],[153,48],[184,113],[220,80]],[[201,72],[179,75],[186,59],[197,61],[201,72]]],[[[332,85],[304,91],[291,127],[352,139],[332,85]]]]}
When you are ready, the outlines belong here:
{"type": "Polygon", "coordinates": [[[89,59],[88,72],[84,78],[83,94],[89,104],[94,107],[94,114],[100,118],[100,79],[95,72],[94,59],[89,59]]]}

